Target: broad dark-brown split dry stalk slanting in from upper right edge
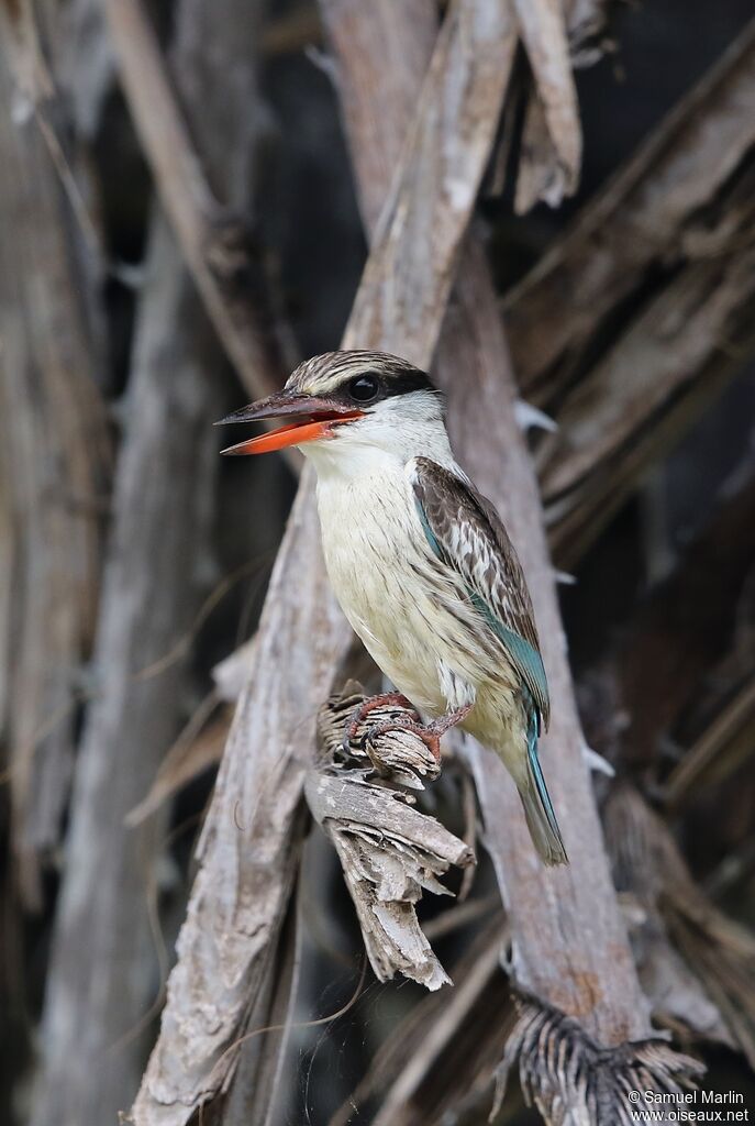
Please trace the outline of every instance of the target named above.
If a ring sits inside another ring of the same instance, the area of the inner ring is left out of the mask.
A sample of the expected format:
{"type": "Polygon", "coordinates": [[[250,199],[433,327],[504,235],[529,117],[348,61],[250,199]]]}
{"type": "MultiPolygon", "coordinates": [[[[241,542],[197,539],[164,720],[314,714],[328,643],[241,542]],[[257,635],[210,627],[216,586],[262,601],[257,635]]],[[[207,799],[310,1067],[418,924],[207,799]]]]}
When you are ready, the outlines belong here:
{"type": "Polygon", "coordinates": [[[567,566],[755,347],[754,98],[750,24],[504,301],[567,566]]]}

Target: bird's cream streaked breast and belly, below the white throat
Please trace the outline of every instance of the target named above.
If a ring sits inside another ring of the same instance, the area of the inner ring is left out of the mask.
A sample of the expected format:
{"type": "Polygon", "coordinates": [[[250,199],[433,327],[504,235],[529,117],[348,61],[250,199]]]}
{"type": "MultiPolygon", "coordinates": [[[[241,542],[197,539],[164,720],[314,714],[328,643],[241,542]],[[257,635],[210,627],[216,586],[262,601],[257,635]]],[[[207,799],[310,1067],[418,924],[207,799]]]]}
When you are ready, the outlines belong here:
{"type": "Polygon", "coordinates": [[[417,707],[442,714],[505,682],[478,643],[474,609],[432,555],[402,467],[321,479],[323,549],[333,590],[377,665],[417,707]]]}

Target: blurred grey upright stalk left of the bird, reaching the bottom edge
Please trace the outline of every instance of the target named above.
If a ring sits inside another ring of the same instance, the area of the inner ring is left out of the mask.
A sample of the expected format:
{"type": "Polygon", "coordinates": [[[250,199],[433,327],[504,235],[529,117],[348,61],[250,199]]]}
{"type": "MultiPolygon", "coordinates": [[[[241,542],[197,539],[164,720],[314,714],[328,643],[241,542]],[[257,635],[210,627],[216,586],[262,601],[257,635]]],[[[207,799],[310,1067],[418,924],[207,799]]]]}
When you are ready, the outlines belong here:
{"type": "Polygon", "coordinates": [[[95,650],[98,690],[77,760],[33,1121],[115,1121],[136,1090],[154,995],[151,897],[165,816],[128,829],[173,741],[185,660],[162,663],[200,599],[222,410],[208,330],[164,221],[153,232],[95,650]],[[188,320],[185,318],[188,314],[188,320]],[[142,1035],[140,1035],[142,1034],[142,1035]],[[75,1045],[75,1052],[71,1046],[75,1045]]]}

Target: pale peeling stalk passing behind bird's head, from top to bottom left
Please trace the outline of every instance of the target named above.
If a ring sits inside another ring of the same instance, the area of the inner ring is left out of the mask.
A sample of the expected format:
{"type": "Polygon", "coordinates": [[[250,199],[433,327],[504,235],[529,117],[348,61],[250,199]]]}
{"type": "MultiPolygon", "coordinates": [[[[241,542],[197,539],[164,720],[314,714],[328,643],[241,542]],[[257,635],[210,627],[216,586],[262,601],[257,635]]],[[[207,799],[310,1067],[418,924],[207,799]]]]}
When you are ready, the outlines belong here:
{"type": "MultiPolygon", "coordinates": [[[[510,44],[503,3],[455,3],[447,20],[383,238],[366,268],[370,302],[357,297],[345,334],[361,347],[402,351],[423,366],[431,359],[449,274],[495,132],[506,78],[501,60],[510,44]],[[449,97],[459,99],[453,109],[458,132],[447,136],[438,107],[449,97]],[[429,243],[428,214],[437,223],[429,243]],[[402,242],[395,238],[395,215],[403,224],[402,242]],[[386,283],[378,294],[381,277],[386,283]],[[411,316],[412,332],[399,289],[412,310],[424,311],[421,321],[411,316]]],[[[299,840],[295,819],[307,749],[314,744],[314,714],[347,645],[345,623],[325,580],[313,480],[306,473],[200,842],[201,867],[160,1038],[133,1109],[140,1126],[187,1121],[233,1074],[236,1053],[226,1049],[243,1031],[251,999],[266,980],[290,896],[299,840]]]]}

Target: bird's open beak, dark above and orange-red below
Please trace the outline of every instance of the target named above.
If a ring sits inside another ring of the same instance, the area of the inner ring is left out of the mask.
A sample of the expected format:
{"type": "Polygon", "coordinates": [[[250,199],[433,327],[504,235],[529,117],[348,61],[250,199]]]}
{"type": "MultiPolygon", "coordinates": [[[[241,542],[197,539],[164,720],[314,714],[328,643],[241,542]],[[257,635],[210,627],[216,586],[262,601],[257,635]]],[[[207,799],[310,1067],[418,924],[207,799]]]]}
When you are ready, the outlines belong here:
{"type": "Polygon", "coordinates": [[[267,399],[260,399],[257,403],[250,403],[249,406],[242,406],[240,411],[234,411],[233,414],[228,414],[215,425],[264,422],[268,419],[280,418],[291,419],[290,422],[271,430],[269,434],[263,434],[259,438],[250,438],[248,441],[240,441],[236,446],[228,446],[227,449],[221,450],[223,454],[237,456],[242,454],[269,454],[273,449],[284,449],[286,446],[300,446],[303,443],[314,441],[316,438],[327,438],[333,434],[335,427],[363,417],[363,411],[333,403],[327,399],[279,391],[267,399]]]}

